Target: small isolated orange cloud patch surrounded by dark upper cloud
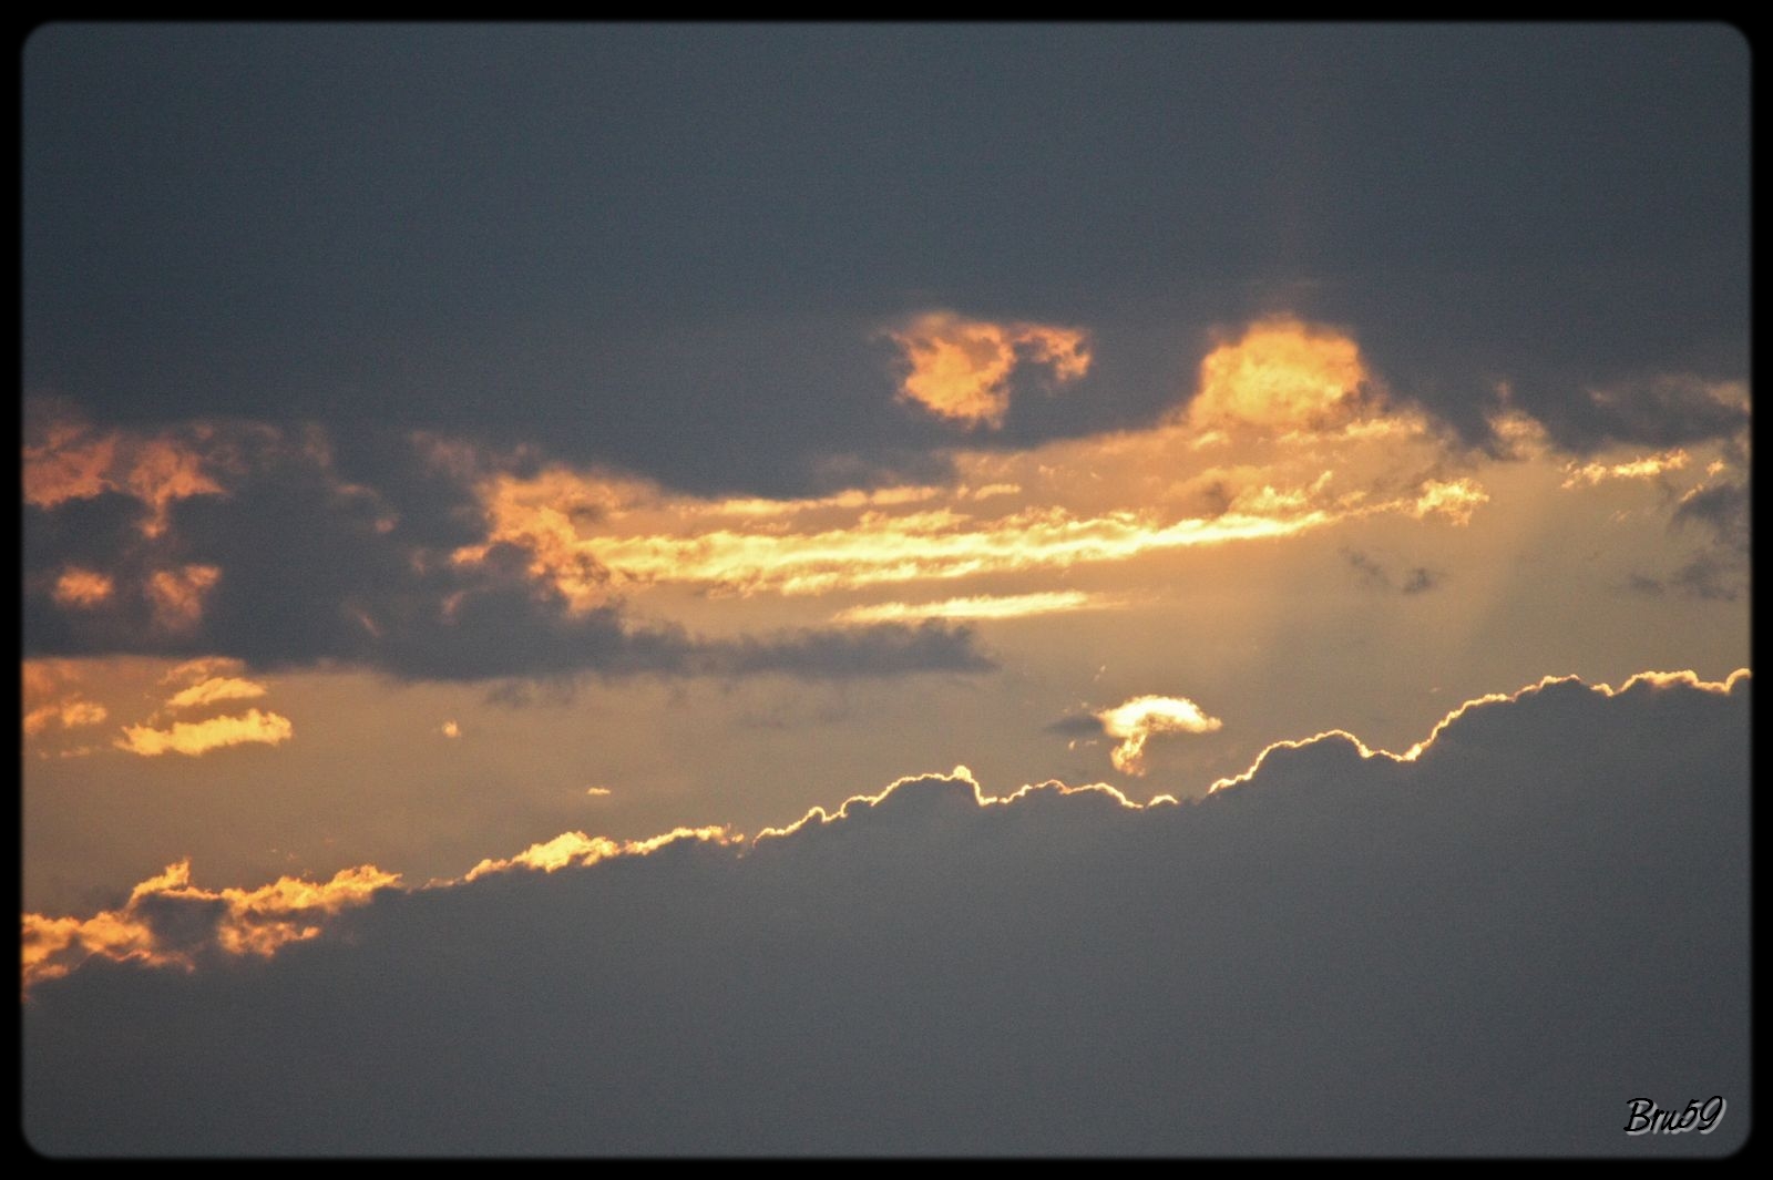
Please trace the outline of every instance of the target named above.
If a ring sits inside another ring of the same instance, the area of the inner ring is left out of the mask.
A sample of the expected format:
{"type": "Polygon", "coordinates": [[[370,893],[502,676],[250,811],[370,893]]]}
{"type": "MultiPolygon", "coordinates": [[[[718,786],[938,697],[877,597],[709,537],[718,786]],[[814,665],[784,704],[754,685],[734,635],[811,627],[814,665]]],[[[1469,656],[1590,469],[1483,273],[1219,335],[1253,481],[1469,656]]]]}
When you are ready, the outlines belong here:
{"type": "Polygon", "coordinates": [[[1016,365],[1046,365],[1060,383],[1076,381],[1090,367],[1089,342],[1074,328],[993,324],[931,312],[886,335],[911,365],[899,395],[973,427],[1004,425],[1016,365]]]}

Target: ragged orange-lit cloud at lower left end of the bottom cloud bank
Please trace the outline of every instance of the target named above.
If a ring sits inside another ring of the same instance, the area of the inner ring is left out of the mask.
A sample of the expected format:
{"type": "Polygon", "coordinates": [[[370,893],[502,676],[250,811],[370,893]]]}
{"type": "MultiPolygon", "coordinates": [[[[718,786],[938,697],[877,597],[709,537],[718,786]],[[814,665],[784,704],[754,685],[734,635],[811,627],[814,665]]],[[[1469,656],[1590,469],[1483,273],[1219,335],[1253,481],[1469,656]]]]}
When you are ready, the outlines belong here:
{"type": "Polygon", "coordinates": [[[324,882],[280,877],[257,889],[200,889],[191,884],[190,861],[179,861],[138,884],[122,909],[92,918],[23,914],[23,985],[67,974],[92,955],[184,971],[209,950],[269,957],[287,943],[319,935],[326,918],[397,884],[399,873],[362,865],[324,882]],[[183,923],[165,923],[167,905],[202,914],[202,937],[174,937],[172,928],[183,923]]]}

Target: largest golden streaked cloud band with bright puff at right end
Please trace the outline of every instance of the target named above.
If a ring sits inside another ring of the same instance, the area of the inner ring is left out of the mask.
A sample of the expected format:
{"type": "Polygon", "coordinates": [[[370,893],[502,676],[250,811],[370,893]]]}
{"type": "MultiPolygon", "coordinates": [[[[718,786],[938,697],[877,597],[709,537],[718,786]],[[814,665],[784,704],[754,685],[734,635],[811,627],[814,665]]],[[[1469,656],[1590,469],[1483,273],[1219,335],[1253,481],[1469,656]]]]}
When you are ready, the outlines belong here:
{"type": "MultiPolygon", "coordinates": [[[[959,331],[956,322],[938,319],[926,335],[947,338],[936,328],[959,331]]],[[[1014,333],[993,331],[979,330],[979,349],[1014,353],[1014,333]]],[[[530,578],[589,611],[656,585],[819,595],[1064,571],[1378,514],[1464,524],[1489,500],[1473,475],[1450,470],[1459,455],[1424,415],[1388,404],[1351,338],[1296,321],[1255,324],[1215,349],[1193,402],[1154,427],[1019,452],[957,450],[950,461],[947,487],[807,500],[697,498],[562,466],[496,471],[479,484],[486,540],[452,560],[480,563],[511,546],[530,578]]],[[[1082,609],[1069,594],[950,595],[855,606],[840,618],[1082,609]]]]}

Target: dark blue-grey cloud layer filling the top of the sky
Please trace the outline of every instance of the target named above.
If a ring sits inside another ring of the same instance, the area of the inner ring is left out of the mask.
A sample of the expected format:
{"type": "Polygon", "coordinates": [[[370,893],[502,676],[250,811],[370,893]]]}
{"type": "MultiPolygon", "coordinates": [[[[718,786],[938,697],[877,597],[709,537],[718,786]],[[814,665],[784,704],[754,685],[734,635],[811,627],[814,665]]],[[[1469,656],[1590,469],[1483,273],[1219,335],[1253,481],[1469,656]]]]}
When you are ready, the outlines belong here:
{"type": "Polygon", "coordinates": [[[1723,25],[96,27],[25,46],[25,386],[544,443],[699,491],[922,478],[927,308],[1087,328],[984,446],[1149,422],[1207,330],[1347,328],[1480,441],[1732,429],[1723,25]],[[1612,400],[1596,402],[1592,392],[1612,400]]]}

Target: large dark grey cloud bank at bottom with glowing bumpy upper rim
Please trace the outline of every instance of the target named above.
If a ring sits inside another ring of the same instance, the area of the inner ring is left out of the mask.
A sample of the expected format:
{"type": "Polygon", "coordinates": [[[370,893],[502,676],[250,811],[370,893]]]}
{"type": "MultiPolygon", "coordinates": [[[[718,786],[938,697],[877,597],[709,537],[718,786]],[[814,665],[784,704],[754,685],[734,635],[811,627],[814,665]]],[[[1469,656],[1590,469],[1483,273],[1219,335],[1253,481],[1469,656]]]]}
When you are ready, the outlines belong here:
{"type": "Polygon", "coordinates": [[[57,1155],[1723,1155],[1753,1123],[1748,716],[1745,679],[1553,682],[1415,762],[1330,735],[1197,804],[924,776],[748,847],[385,889],[268,962],[92,959],[25,1005],[23,1127],[57,1155]],[[1713,1136],[1624,1136],[1633,1098],[1711,1095],[1713,1136]]]}

